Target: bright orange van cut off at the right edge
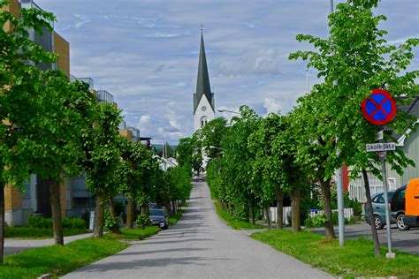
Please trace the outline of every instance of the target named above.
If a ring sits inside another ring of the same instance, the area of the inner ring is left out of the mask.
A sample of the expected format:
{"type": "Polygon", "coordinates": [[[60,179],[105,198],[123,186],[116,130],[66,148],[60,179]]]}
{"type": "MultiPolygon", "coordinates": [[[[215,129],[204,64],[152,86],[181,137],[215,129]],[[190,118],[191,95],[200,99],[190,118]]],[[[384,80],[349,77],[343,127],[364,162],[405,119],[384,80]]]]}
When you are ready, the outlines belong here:
{"type": "Polygon", "coordinates": [[[405,223],[411,227],[419,226],[419,178],[410,179],[405,199],[405,223]]]}

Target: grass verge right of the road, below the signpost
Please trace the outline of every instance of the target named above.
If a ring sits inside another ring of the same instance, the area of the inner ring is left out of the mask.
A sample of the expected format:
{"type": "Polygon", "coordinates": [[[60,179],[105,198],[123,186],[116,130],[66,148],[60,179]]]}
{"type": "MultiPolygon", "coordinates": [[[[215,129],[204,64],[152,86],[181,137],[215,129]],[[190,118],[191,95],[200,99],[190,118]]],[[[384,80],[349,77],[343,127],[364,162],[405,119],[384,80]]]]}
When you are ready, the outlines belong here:
{"type": "Polygon", "coordinates": [[[325,240],[309,231],[266,230],[254,233],[255,238],[297,260],[321,268],[331,275],[345,278],[408,277],[419,278],[419,257],[397,252],[396,259],[385,258],[387,249],[381,247],[381,257],[374,256],[374,246],[366,238],[347,239],[344,247],[339,240],[325,240]]]}

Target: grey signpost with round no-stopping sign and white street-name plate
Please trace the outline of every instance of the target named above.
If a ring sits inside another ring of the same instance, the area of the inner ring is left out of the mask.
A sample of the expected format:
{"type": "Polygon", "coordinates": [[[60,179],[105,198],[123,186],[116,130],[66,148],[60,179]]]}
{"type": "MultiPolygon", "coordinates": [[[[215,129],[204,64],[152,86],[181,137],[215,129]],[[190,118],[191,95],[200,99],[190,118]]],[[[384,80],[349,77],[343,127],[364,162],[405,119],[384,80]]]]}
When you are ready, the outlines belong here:
{"type": "MultiPolygon", "coordinates": [[[[365,99],[362,104],[362,116],[370,123],[375,125],[385,125],[394,119],[396,116],[396,103],[392,96],[383,89],[372,90],[369,98],[365,99]]],[[[377,140],[379,143],[369,143],[366,145],[367,152],[377,152],[380,161],[383,175],[383,186],[385,196],[385,227],[387,228],[387,245],[388,253],[385,254],[387,259],[395,259],[396,254],[392,253],[392,230],[390,222],[390,208],[388,203],[388,186],[387,186],[387,171],[385,170],[386,151],[396,150],[394,142],[383,141],[383,130],[377,133],[377,140]]],[[[371,213],[372,216],[372,213],[371,213]]],[[[372,219],[372,218],[371,218],[372,219]]],[[[371,221],[371,226],[374,225],[371,221]]]]}

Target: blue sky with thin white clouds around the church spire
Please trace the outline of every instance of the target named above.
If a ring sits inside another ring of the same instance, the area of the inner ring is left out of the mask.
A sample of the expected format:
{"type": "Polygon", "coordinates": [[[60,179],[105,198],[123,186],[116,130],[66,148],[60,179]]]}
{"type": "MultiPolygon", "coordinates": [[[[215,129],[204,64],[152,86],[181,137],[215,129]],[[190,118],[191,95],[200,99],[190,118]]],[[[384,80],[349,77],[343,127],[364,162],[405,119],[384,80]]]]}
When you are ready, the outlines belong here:
{"type": "MultiPolygon", "coordinates": [[[[286,114],[307,92],[306,63],[288,56],[311,47],[295,35],[326,38],[331,1],[34,2],[57,17],[56,31],[70,42],[72,75],[113,94],[141,137],[176,144],[194,132],[201,28],[216,109],[248,105],[261,116],[286,114]]],[[[380,27],[390,44],[419,37],[419,1],[383,0],[375,13],[387,17],[380,27]]],[[[417,49],[415,55],[410,69],[417,70],[417,49]]],[[[309,70],[309,87],[318,82],[309,70]]],[[[216,117],[231,116],[216,111],[216,117]]]]}

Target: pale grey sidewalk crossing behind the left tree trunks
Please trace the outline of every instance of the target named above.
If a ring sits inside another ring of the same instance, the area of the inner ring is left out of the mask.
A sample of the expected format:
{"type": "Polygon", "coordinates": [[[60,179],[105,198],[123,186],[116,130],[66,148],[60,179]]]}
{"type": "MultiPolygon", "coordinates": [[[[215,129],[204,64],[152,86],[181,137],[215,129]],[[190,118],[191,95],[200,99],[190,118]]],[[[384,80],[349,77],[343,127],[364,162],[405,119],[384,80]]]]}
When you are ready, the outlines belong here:
{"type": "MultiPolygon", "coordinates": [[[[81,235],[65,237],[64,243],[67,244],[74,240],[82,239],[82,238],[90,238],[92,237],[93,233],[85,233],[81,235]]],[[[47,238],[47,239],[20,239],[20,238],[4,238],[4,257],[10,256],[15,253],[20,253],[21,251],[35,248],[35,247],[42,247],[42,246],[49,246],[54,245],[54,238],[47,238]]]]}

